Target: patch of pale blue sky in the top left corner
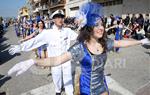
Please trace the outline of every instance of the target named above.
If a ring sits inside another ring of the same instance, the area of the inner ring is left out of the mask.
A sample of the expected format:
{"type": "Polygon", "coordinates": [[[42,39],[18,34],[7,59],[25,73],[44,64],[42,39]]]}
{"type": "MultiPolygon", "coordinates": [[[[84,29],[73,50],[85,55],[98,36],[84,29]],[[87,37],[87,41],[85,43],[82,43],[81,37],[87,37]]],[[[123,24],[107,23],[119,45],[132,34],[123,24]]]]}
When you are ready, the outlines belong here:
{"type": "Polygon", "coordinates": [[[26,4],[27,0],[1,0],[0,16],[17,17],[18,10],[26,4]]]}

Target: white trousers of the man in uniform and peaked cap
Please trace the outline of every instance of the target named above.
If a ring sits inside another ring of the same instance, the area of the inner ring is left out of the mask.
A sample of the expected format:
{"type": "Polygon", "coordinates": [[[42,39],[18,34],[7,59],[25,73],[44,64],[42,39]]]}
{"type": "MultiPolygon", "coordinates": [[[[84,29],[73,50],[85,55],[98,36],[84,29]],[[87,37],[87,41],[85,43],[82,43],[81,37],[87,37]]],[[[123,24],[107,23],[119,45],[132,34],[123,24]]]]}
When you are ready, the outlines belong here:
{"type": "Polygon", "coordinates": [[[71,61],[51,68],[56,93],[61,92],[64,84],[66,95],[73,95],[71,61]]]}

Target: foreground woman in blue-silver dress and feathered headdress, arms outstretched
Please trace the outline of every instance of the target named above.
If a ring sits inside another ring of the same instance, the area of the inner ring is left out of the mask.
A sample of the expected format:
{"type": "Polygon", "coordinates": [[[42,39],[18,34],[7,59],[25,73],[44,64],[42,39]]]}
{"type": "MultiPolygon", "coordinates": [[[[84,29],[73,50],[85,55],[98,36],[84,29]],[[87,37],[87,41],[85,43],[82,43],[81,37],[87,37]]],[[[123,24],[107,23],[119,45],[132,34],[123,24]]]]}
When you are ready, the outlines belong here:
{"type": "Polygon", "coordinates": [[[23,61],[9,70],[8,75],[11,75],[13,72],[21,74],[34,64],[39,66],[56,66],[73,59],[75,62],[79,61],[81,67],[80,95],[108,95],[109,91],[104,76],[107,53],[113,50],[114,47],[129,47],[147,44],[150,41],[148,39],[140,41],[116,41],[109,39],[107,38],[101,16],[98,14],[99,11],[97,9],[100,9],[99,5],[86,3],[81,9],[82,16],[80,16],[79,22],[81,22],[82,27],[80,34],[77,42],[69,48],[68,52],[57,57],[23,61]]]}

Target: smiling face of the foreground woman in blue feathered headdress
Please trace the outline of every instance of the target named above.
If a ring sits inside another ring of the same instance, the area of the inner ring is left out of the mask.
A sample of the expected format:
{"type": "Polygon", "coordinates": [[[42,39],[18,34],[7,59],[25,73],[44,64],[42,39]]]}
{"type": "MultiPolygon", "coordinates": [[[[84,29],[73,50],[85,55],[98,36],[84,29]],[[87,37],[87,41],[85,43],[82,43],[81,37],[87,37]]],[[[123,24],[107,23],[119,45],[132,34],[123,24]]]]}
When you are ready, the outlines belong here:
{"type": "Polygon", "coordinates": [[[102,38],[103,34],[104,34],[104,26],[102,24],[102,22],[100,21],[98,24],[96,24],[93,28],[93,37],[96,39],[102,38]]]}

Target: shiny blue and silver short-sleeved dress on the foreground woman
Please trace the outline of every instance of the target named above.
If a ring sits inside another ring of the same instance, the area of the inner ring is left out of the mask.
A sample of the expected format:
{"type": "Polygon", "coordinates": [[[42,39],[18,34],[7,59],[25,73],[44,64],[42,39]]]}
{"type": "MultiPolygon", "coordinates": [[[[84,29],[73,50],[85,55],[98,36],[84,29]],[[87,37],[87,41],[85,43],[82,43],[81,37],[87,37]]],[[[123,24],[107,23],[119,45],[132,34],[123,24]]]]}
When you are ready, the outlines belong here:
{"type": "MultiPolygon", "coordinates": [[[[107,40],[107,52],[113,50],[114,41],[107,40]]],[[[80,95],[100,95],[108,92],[104,76],[104,66],[107,59],[107,52],[99,55],[92,55],[86,45],[82,42],[75,43],[68,50],[74,61],[81,65],[80,95]]]]}

